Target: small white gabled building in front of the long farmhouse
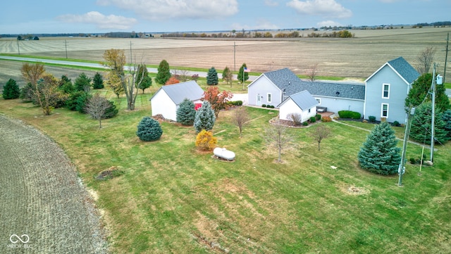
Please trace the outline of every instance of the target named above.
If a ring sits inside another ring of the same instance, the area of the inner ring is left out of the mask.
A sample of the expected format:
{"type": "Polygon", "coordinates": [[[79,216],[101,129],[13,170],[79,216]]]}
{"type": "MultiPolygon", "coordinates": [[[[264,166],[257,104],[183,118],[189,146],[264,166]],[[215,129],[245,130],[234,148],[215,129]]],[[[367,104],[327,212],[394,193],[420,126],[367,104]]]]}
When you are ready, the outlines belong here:
{"type": "Polygon", "coordinates": [[[318,104],[318,101],[307,90],[292,94],[278,106],[279,119],[292,121],[290,114],[299,113],[301,122],[305,122],[316,115],[318,104]]]}

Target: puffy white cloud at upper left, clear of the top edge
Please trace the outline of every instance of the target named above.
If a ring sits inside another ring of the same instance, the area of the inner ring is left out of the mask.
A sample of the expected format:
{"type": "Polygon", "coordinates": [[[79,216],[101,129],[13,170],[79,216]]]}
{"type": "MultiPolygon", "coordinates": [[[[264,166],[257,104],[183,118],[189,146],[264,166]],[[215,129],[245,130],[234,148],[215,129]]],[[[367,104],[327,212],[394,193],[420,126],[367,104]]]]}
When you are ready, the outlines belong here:
{"type": "Polygon", "coordinates": [[[125,18],[118,15],[104,15],[97,11],[89,11],[82,15],[66,14],[57,17],[66,23],[88,23],[99,27],[100,29],[118,29],[127,30],[137,23],[135,18],[125,18]]]}

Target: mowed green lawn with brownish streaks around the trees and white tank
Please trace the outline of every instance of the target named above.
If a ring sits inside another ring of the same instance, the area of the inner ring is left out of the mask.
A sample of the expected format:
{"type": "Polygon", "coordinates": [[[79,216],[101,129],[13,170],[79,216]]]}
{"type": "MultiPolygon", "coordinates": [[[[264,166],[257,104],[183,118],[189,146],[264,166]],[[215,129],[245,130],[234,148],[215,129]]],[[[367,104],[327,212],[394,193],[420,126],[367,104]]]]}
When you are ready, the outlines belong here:
{"type": "MultiPolygon", "coordinates": [[[[57,109],[44,116],[30,103],[0,99],[0,113],[46,132],[77,165],[97,193],[113,253],[451,252],[450,144],[437,146],[435,165],[421,175],[407,163],[399,187],[397,175],[358,167],[368,132],[335,122],[317,124],[332,130],[321,151],[315,125],[290,129],[295,146],[276,163],[261,134],[278,111],[247,108],[252,120],[242,139],[230,122],[234,111],[219,114],[218,146],[236,153],[223,162],[197,151],[192,127],[162,122],[159,141],[137,138],[154,91],[138,96],[133,112],[123,98],[99,91],[121,108],[102,129],[87,115],[57,109]],[[125,174],[94,179],[109,167],[125,174]]],[[[420,155],[421,146],[409,144],[407,158],[420,155]]]]}

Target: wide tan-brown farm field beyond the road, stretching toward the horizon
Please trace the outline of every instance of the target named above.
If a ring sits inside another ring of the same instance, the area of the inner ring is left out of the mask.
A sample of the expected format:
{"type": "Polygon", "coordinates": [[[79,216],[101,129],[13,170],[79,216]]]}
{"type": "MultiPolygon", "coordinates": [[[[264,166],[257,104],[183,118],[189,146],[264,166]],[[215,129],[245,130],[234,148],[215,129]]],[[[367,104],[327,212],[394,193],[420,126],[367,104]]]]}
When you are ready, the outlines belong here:
{"type": "MultiPolygon", "coordinates": [[[[311,31],[310,31],[311,32],[311,31]]],[[[124,49],[134,61],[158,65],[166,59],[171,66],[223,70],[239,69],[242,63],[255,72],[290,68],[304,75],[309,66],[318,63],[319,75],[366,79],[383,65],[399,56],[416,65],[416,56],[434,46],[439,70],[445,62],[447,32],[450,27],[393,30],[351,30],[354,38],[308,38],[235,40],[233,39],[106,39],[106,38],[42,38],[20,42],[20,53],[35,56],[66,57],[102,61],[106,49],[124,49]]],[[[317,31],[321,33],[321,31],[317,31]]],[[[15,39],[0,39],[1,53],[17,53],[15,39]]],[[[449,68],[449,67],[448,67],[449,68]]]]}

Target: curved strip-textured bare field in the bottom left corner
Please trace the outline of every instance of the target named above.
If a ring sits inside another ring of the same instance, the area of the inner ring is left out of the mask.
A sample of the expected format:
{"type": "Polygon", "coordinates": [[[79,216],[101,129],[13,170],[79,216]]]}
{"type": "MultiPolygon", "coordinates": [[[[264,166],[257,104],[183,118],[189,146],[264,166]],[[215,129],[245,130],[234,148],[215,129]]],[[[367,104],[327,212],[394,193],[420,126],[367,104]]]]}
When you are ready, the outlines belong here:
{"type": "Polygon", "coordinates": [[[0,253],[107,253],[99,214],[67,155],[3,115],[0,253]]]}

